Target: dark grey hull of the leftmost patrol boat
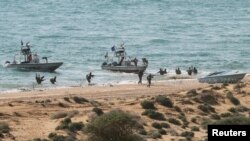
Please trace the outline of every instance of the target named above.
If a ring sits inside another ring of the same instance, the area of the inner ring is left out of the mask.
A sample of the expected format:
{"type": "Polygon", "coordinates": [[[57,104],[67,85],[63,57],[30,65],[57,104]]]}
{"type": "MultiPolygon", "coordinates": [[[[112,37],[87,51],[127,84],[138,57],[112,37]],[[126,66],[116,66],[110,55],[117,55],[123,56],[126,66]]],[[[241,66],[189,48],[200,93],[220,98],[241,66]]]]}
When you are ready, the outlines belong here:
{"type": "Polygon", "coordinates": [[[22,64],[9,64],[6,67],[17,69],[17,70],[26,70],[26,71],[44,71],[44,72],[53,72],[59,68],[63,62],[56,63],[22,63],[22,64]]]}

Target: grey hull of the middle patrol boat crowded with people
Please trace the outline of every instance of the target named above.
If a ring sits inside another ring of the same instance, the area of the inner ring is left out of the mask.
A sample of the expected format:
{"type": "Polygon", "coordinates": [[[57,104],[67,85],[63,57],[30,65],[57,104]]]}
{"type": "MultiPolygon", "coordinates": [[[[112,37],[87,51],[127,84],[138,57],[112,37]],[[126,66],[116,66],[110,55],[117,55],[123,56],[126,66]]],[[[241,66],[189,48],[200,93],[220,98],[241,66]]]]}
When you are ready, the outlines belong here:
{"type": "Polygon", "coordinates": [[[126,72],[126,73],[138,73],[139,71],[145,71],[147,66],[108,66],[103,65],[103,70],[126,72]]]}

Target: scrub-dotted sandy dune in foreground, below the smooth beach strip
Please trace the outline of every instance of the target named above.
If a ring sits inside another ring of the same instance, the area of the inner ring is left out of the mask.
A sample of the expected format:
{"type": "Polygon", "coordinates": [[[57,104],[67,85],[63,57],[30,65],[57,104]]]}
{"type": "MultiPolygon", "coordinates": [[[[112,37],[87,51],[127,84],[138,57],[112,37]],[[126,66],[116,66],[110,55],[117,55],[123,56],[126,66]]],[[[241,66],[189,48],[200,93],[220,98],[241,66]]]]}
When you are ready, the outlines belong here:
{"type": "Polygon", "coordinates": [[[206,137],[208,124],[250,124],[249,103],[246,100],[248,91],[246,87],[241,87],[246,93],[239,94],[235,87],[209,86],[130,99],[118,97],[93,100],[74,94],[58,99],[46,97],[27,102],[8,102],[13,106],[6,103],[6,107],[13,111],[0,113],[0,118],[5,119],[5,122],[0,123],[0,138],[18,138],[12,132],[12,128],[18,130],[16,127],[20,127],[16,123],[22,125],[25,122],[23,125],[26,125],[29,123],[25,119],[32,122],[40,118],[43,120],[37,122],[36,129],[45,135],[32,136],[27,140],[201,140],[206,137]],[[239,102],[230,99],[238,99],[239,102]],[[19,110],[26,105],[34,106],[35,109],[28,111],[30,107],[27,107],[27,111],[19,110]],[[44,130],[48,128],[44,126],[48,123],[50,129],[44,130]]]}

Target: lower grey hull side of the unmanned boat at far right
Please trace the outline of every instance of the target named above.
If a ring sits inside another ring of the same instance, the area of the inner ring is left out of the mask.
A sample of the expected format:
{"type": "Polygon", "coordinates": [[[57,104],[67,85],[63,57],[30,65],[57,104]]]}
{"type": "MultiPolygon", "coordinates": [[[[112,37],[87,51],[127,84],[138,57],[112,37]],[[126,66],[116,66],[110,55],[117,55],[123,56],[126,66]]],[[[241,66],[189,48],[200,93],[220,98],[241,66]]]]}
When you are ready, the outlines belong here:
{"type": "Polygon", "coordinates": [[[246,73],[232,74],[232,75],[222,75],[222,76],[212,76],[199,78],[201,83],[237,83],[245,77],[246,73]]]}

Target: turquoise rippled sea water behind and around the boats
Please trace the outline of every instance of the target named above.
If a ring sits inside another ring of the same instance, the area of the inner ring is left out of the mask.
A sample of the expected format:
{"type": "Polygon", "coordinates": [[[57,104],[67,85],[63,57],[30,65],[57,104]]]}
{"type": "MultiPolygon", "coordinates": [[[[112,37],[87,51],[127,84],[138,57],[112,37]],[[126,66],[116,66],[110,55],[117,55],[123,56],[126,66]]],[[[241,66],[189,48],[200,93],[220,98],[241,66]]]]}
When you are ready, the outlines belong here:
{"type": "Polygon", "coordinates": [[[97,84],[137,81],[134,74],[100,68],[106,51],[121,42],[130,56],[149,60],[149,73],[191,65],[201,74],[249,72],[250,1],[0,0],[0,90],[35,82],[34,72],[3,66],[19,51],[20,40],[49,61],[64,62],[56,73],[41,73],[47,80],[58,76],[58,86],[79,85],[90,71],[97,84]]]}

